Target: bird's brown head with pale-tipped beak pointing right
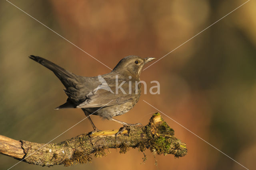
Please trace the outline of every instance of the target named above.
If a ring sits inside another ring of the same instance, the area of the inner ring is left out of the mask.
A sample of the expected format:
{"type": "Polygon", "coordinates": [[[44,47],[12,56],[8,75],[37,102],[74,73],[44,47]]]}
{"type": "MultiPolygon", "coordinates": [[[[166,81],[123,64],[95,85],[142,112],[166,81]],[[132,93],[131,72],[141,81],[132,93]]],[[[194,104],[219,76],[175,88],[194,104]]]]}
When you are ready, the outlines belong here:
{"type": "Polygon", "coordinates": [[[134,77],[139,78],[140,72],[144,64],[154,60],[155,58],[147,57],[141,58],[135,55],[124,57],[113,69],[114,72],[128,74],[134,77]]]}

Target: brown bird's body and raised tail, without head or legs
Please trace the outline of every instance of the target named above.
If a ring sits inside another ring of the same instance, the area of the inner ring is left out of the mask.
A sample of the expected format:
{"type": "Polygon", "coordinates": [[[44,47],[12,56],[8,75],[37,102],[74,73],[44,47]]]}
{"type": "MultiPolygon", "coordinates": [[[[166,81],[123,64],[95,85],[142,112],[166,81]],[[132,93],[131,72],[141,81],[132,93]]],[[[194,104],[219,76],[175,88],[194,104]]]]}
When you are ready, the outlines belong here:
{"type": "Polygon", "coordinates": [[[126,113],[140,98],[140,84],[136,88],[139,78],[130,78],[116,70],[102,76],[78,76],[42,57],[30,56],[30,59],[52,70],[65,86],[68,100],[58,109],[78,107],[91,112],[102,107],[95,114],[108,118],[106,114],[112,117],[126,113]]]}

